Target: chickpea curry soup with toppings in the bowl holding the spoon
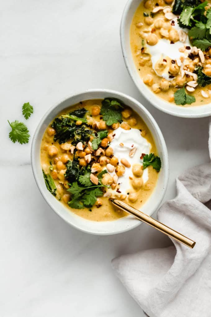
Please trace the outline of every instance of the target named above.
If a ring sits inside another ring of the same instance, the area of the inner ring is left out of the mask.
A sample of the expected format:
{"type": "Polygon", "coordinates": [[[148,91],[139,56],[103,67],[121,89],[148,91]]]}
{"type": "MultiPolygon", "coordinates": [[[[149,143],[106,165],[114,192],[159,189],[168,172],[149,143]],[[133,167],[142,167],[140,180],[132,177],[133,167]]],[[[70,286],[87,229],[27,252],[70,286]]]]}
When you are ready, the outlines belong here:
{"type": "Polygon", "coordinates": [[[78,216],[93,221],[125,217],[112,198],[136,208],[151,195],[161,168],[153,137],[121,101],[86,100],[47,127],[40,152],[47,189],[78,216]]]}

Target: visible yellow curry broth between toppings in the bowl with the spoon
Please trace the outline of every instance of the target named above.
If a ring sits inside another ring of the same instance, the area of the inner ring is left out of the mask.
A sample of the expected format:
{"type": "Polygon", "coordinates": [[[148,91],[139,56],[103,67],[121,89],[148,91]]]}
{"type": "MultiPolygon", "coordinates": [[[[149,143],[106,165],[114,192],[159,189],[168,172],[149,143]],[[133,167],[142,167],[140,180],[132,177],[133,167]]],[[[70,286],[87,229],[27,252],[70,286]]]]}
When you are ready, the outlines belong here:
{"type": "MultiPolygon", "coordinates": [[[[82,104],[78,103],[75,106],[71,106],[69,108],[66,108],[61,113],[59,113],[59,115],[69,113],[73,110],[76,110],[78,108],[83,108],[83,107],[85,107],[88,111],[91,112],[93,105],[98,105],[99,107],[101,107],[101,101],[102,100],[86,100],[86,101],[83,101],[82,104]]],[[[146,124],[144,123],[144,121],[140,118],[140,116],[137,113],[133,112],[132,116],[135,117],[135,119],[137,121],[137,124],[133,127],[142,130],[143,136],[152,145],[151,152],[156,153],[157,150],[156,150],[156,146],[155,146],[152,134],[150,133],[146,124]]],[[[94,119],[97,121],[100,121],[101,120],[100,118],[102,118],[100,115],[94,117],[94,119]]],[[[130,122],[129,119],[124,119],[124,121],[126,121],[128,123],[130,122]]],[[[51,125],[49,125],[49,126],[51,126],[51,125]]],[[[108,130],[109,130],[109,133],[112,131],[115,131],[115,130],[109,129],[109,128],[108,128],[108,130]]],[[[110,145],[112,146],[112,142],[110,143],[110,145]]],[[[46,130],[44,135],[43,135],[43,139],[41,142],[41,150],[40,150],[41,166],[42,166],[42,169],[44,170],[44,172],[52,174],[53,171],[50,171],[49,167],[53,166],[53,170],[55,170],[56,169],[55,162],[58,160],[58,158],[61,158],[61,156],[64,154],[67,154],[70,160],[73,159],[73,154],[71,154],[68,151],[62,150],[59,142],[58,141],[54,142],[53,136],[49,136],[47,133],[47,130],[46,130]],[[58,150],[58,155],[53,159],[49,158],[48,153],[47,153],[48,147],[51,145],[56,146],[56,148],[58,150]],[[50,162],[52,163],[52,165],[50,165],[50,162]]],[[[140,155],[141,155],[141,153],[140,153],[140,155]]],[[[62,170],[62,172],[65,173],[65,170],[62,170]]],[[[133,205],[135,208],[140,208],[146,202],[146,200],[151,195],[151,193],[156,185],[157,178],[158,178],[158,172],[155,171],[152,168],[152,166],[149,166],[148,167],[148,174],[149,174],[148,175],[149,179],[148,179],[147,183],[144,184],[140,190],[136,191],[136,192],[138,192],[138,200],[135,203],[129,202],[127,198],[124,200],[125,202],[133,205]]],[[[119,180],[121,180],[121,177],[119,178],[119,180]]],[[[92,220],[92,221],[111,221],[111,220],[116,220],[116,219],[119,219],[121,217],[127,216],[127,214],[125,212],[123,212],[121,210],[116,210],[107,197],[100,197],[100,199],[102,201],[102,206],[100,206],[100,207],[93,205],[91,208],[84,208],[84,209],[70,208],[68,206],[67,202],[64,201],[64,198],[63,198],[64,195],[70,194],[65,188],[65,186],[68,188],[67,181],[65,180],[65,178],[63,178],[63,179],[56,178],[56,179],[54,179],[54,183],[57,187],[56,198],[59,199],[60,202],[65,207],[67,207],[70,211],[74,212],[75,214],[77,214],[80,217],[83,217],[85,219],[92,220]]],[[[131,185],[131,192],[134,192],[134,191],[135,190],[132,188],[132,185],[131,185]]]]}

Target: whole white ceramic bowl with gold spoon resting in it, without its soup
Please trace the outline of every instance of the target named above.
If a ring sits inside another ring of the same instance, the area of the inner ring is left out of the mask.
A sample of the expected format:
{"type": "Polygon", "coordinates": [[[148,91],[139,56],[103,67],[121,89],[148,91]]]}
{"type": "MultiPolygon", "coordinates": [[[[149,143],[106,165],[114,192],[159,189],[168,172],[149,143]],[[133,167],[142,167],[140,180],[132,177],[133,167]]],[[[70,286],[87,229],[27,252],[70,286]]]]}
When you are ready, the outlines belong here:
{"type": "Polygon", "coordinates": [[[157,123],[153,119],[152,115],[137,100],[125,94],[121,94],[112,90],[88,90],[80,94],[75,94],[59,102],[51,109],[49,109],[47,113],[45,113],[34,133],[31,147],[31,162],[34,178],[42,196],[45,198],[49,206],[62,219],[71,224],[73,227],[84,232],[96,235],[111,235],[127,231],[137,227],[138,225],[140,225],[141,222],[132,216],[121,218],[115,221],[95,222],[81,218],[71,212],[68,208],[65,208],[65,206],[61,204],[46,188],[40,164],[40,145],[43,133],[45,132],[47,126],[58,115],[60,111],[78,103],[79,101],[88,99],[103,99],[105,97],[120,99],[126,105],[133,108],[146,122],[154,137],[158,149],[158,155],[160,156],[162,161],[162,169],[159,173],[158,182],[155,190],[153,191],[146,204],[141,208],[143,212],[147,213],[148,215],[152,215],[152,213],[157,210],[159,205],[161,204],[166,191],[169,176],[168,153],[163,135],[157,123]]]}

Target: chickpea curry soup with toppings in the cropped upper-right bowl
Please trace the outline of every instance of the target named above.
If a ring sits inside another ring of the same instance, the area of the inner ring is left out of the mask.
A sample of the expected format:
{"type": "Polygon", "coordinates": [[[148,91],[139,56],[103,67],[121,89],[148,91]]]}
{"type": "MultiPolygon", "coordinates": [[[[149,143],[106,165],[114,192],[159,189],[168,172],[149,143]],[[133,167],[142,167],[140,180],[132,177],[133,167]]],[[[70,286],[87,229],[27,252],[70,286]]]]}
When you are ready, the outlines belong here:
{"type": "Polygon", "coordinates": [[[141,1],[130,41],[136,68],[153,93],[184,107],[210,103],[210,0],[141,1]]]}

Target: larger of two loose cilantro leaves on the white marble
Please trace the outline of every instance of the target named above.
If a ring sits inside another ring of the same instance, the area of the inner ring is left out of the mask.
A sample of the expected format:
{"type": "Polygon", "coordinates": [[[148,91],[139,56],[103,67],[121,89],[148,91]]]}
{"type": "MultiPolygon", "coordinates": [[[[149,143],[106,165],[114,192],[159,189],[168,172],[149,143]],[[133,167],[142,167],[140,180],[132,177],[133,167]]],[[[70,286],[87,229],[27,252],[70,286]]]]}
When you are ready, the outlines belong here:
{"type": "Polygon", "coordinates": [[[27,126],[23,122],[15,120],[14,122],[9,122],[9,125],[12,128],[12,130],[9,132],[9,138],[13,143],[16,141],[20,144],[28,143],[30,135],[27,126]]]}

